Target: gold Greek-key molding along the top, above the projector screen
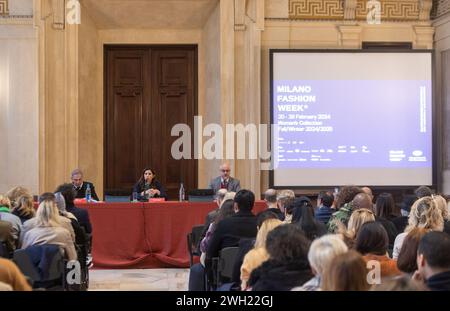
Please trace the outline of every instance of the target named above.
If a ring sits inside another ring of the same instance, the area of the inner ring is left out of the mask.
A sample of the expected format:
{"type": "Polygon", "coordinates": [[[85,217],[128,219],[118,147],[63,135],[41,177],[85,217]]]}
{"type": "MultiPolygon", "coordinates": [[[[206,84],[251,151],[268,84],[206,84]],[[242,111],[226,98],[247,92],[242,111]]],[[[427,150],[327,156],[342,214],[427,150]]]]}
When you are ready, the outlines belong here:
{"type": "MultiPolygon", "coordinates": [[[[378,0],[381,21],[430,19],[432,0],[378,0]]],[[[447,0],[446,0],[447,1],[447,0]]],[[[289,0],[289,18],[301,20],[367,20],[368,0],[289,0]]]]}

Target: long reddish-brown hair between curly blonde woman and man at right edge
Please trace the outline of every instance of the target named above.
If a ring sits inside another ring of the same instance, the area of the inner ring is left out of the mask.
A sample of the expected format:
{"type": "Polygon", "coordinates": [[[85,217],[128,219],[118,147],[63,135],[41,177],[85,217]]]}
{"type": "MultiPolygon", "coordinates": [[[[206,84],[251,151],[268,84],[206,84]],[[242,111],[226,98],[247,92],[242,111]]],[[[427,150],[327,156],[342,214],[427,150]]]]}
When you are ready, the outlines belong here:
{"type": "Polygon", "coordinates": [[[417,270],[417,249],[427,232],[424,228],[414,228],[406,235],[397,259],[397,268],[403,273],[412,276],[417,270]]]}

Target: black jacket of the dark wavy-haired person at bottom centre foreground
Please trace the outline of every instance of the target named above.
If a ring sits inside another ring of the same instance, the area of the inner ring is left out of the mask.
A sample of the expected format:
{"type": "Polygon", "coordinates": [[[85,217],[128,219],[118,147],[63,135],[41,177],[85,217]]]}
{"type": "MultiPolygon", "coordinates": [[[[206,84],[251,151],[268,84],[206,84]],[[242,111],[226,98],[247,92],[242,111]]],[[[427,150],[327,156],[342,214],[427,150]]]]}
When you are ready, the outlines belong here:
{"type": "Polygon", "coordinates": [[[307,260],[279,262],[269,259],[250,274],[253,291],[289,291],[313,277],[307,260]]]}

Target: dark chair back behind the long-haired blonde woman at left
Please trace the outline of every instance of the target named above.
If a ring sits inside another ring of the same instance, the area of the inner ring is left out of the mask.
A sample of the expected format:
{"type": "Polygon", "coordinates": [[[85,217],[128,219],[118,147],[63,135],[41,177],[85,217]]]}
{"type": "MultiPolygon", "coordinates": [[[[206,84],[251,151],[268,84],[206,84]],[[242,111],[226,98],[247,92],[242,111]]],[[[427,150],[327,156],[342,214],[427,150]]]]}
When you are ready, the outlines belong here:
{"type": "Polygon", "coordinates": [[[27,249],[19,249],[14,252],[13,261],[22,273],[36,282],[47,282],[64,278],[64,258],[57,245],[35,245],[27,249]],[[37,250],[39,247],[55,247],[56,252],[49,259],[46,271],[41,271],[39,263],[34,262],[30,249],[37,250]],[[44,277],[45,275],[45,277],[44,277]]]}

